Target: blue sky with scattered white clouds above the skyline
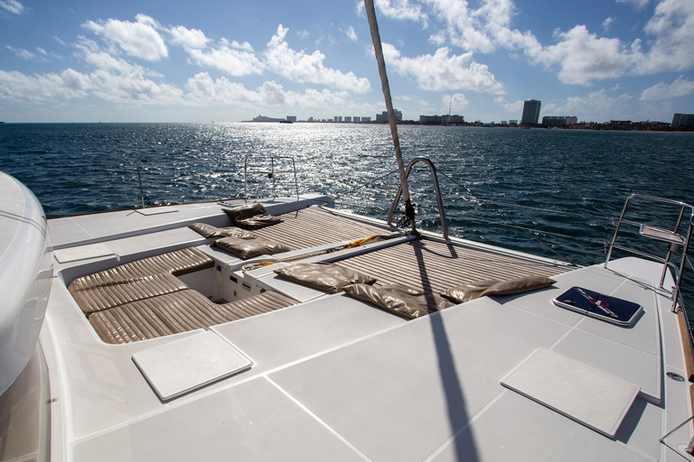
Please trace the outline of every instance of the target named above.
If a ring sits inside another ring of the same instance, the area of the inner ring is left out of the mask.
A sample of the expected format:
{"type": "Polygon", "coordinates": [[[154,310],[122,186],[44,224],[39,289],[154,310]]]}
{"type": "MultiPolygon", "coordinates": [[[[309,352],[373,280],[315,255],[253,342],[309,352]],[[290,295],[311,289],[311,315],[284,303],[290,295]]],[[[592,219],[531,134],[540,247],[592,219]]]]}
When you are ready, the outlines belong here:
{"type": "MultiPolygon", "coordinates": [[[[405,118],[694,113],[694,0],[376,0],[405,118]]],[[[385,110],[352,0],[0,0],[0,121],[216,122],[385,110]]]]}

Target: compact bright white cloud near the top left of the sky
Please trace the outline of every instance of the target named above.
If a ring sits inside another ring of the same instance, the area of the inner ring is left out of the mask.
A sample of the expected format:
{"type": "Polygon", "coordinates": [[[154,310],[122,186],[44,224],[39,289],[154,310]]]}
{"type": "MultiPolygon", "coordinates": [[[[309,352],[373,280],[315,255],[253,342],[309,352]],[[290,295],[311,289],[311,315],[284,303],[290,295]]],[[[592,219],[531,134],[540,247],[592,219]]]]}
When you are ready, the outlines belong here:
{"type": "Polygon", "coordinates": [[[137,14],[136,23],[108,19],[98,23],[88,21],[82,27],[103,37],[114,52],[119,49],[143,60],[161,60],[168,56],[164,39],[157,32],[159,24],[145,14],[137,14]]]}

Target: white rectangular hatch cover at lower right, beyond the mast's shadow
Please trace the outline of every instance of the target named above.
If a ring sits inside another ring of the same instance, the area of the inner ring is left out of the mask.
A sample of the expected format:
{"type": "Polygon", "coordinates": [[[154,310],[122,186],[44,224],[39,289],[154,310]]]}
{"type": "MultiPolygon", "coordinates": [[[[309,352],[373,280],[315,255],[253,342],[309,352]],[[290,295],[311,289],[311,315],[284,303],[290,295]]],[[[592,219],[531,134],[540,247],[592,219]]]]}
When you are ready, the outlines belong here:
{"type": "Polygon", "coordinates": [[[614,438],[640,388],[614,375],[538,348],[502,385],[614,438]]]}

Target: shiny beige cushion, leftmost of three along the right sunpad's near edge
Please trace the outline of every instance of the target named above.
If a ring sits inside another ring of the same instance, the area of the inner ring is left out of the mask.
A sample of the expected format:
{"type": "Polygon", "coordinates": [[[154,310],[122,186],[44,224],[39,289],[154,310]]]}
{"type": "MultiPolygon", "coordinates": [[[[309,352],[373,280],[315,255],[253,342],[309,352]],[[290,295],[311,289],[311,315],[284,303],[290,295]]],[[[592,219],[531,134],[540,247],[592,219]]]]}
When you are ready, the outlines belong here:
{"type": "Polygon", "coordinates": [[[335,263],[295,263],[275,270],[275,273],[289,281],[332,293],[342,291],[342,287],[346,285],[376,282],[375,278],[367,274],[335,263]]]}

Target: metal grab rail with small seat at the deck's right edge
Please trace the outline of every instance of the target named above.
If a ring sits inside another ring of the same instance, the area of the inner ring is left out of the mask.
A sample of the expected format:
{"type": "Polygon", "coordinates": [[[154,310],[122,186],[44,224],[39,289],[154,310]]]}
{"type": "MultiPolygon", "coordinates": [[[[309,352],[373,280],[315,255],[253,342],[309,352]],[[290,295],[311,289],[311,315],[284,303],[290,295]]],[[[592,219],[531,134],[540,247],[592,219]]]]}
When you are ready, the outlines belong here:
{"type": "Polygon", "coordinates": [[[675,279],[675,287],[672,288],[672,311],[675,312],[677,310],[677,303],[680,298],[680,283],[682,282],[682,271],[684,271],[684,263],[687,260],[687,251],[689,249],[689,238],[691,237],[691,230],[692,226],[694,226],[694,207],[689,205],[686,202],[680,202],[679,200],[672,200],[672,199],[664,199],[664,198],[658,198],[655,196],[645,196],[642,194],[632,194],[628,198],[626,198],[626,201],[624,202],[624,208],[622,208],[622,215],[619,217],[619,221],[617,222],[617,227],[614,230],[614,236],[612,238],[612,243],[610,243],[610,248],[609,251],[607,252],[607,258],[605,259],[605,268],[607,267],[607,263],[609,263],[610,258],[612,257],[612,251],[613,249],[620,249],[624,250],[625,252],[630,252],[632,254],[638,254],[642,255],[646,258],[651,258],[653,260],[659,261],[663,263],[662,265],[662,273],[661,273],[661,289],[663,282],[665,282],[665,275],[667,274],[668,267],[673,268],[674,271],[672,271],[672,277],[675,279]],[[665,204],[670,204],[670,205],[675,205],[675,206],[680,206],[680,216],[677,219],[677,224],[675,225],[674,229],[672,231],[667,230],[667,229],[661,229],[655,226],[645,226],[642,223],[625,219],[624,215],[626,214],[626,209],[629,207],[629,202],[632,199],[643,199],[643,200],[650,200],[650,201],[655,201],[655,202],[661,202],[665,204]],[[687,226],[687,232],[685,235],[680,235],[680,226],[682,225],[682,221],[684,220],[684,212],[685,209],[689,208],[689,226],[687,226]],[[639,226],[639,234],[641,236],[650,238],[650,239],[655,239],[658,241],[663,241],[668,243],[668,254],[665,258],[662,258],[657,255],[653,254],[647,254],[645,252],[632,249],[629,247],[624,247],[622,245],[615,245],[614,243],[617,240],[617,235],[619,234],[619,228],[622,226],[622,224],[625,225],[632,225],[632,226],[639,226]],[[671,257],[673,252],[679,252],[681,250],[682,253],[682,258],[680,260],[680,265],[679,267],[675,265],[674,263],[671,263],[671,257]]]}

